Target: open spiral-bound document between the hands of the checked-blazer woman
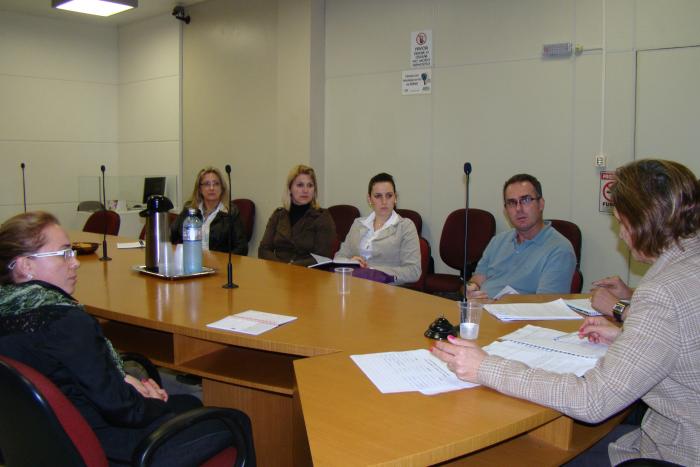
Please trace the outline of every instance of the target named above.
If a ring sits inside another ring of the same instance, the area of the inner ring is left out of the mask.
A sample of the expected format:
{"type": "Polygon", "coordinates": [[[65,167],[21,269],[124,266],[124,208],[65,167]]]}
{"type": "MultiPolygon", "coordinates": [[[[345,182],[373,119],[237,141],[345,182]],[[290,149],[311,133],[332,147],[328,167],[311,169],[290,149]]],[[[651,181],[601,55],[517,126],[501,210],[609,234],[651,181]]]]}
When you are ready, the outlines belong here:
{"type": "Polygon", "coordinates": [[[593,368],[608,346],[579,339],[565,333],[539,326],[524,326],[484,347],[489,355],[522,362],[533,368],[554,373],[574,373],[583,376],[593,368]]]}

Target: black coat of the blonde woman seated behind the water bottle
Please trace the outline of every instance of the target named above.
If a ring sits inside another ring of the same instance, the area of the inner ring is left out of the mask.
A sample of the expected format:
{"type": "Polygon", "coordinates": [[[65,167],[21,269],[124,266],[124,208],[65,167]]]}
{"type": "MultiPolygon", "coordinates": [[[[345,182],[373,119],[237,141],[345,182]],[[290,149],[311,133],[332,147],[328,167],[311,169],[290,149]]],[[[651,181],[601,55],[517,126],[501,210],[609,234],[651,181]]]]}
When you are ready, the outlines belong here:
{"type": "MultiPolygon", "coordinates": [[[[170,226],[170,241],[182,243],[182,224],[187,217],[187,208],[177,216],[170,226]]],[[[243,228],[240,212],[231,204],[231,213],[219,211],[209,226],[209,249],[228,253],[228,235],[231,232],[231,253],[245,256],[248,254],[248,238],[243,228]]]]}

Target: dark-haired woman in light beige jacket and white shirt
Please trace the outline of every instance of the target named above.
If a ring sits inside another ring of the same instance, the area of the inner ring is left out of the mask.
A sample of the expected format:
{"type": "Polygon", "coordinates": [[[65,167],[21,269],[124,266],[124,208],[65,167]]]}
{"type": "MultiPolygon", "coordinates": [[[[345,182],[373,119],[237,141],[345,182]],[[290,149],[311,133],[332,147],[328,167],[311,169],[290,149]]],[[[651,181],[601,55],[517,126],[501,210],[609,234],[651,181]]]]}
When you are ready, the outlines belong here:
{"type": "Polygon", "coordinates": [[[412,220],[394,211],[397,200],[394,177],[382,172],[370,179],[367,203],[372,213],[355,219],[335,255],[336,260],[350,258],[359,262],[361,270],[355,275],[374,279],[362,270],[375,269],[387,276],[380,281],[396,285],[420,278],[418,231],[412,220]]]}

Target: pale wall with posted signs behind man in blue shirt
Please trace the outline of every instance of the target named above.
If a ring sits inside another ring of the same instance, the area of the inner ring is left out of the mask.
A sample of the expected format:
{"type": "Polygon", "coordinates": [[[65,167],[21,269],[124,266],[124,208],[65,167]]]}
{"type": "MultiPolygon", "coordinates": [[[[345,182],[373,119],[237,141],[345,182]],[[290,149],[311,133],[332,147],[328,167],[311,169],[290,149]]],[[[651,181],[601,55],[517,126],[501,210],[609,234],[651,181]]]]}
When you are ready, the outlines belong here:
{"type": "Polygon", "coordinates": [[[438,269],[447,271],[437,250],[446,216],[463,207],[463,163],[474,167],[471,206],[491,211],[498,231],[507,228],[503,182],[530,172],[543,184],[545,216],[581,227],[586,283],[627,277],[627,251],[611,217],[598,213],[601,47],[603,149],[612,170],[634,158],[635,48],[700,43],[700,6],[608,1],[604,44],[604,3],[327,0],[326,204],[367,213],[367,180],[392,173],[400,206],[423,215],[438,269]],[[401,96],[410,33],[421,29],[433,32],[433,91],[401,96]],[[541,58],[542,44],[568,41],[583,54],[541,58]]]}

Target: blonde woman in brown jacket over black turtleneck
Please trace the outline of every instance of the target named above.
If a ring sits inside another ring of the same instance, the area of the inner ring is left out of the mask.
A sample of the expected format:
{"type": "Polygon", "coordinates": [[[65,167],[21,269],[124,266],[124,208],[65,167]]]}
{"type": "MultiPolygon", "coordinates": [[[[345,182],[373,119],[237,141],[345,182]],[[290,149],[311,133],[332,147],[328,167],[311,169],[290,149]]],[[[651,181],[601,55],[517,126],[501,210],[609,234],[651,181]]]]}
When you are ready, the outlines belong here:
{"type": "Polygon", "coordinates": [[[267,221],[258,257],[309,266],[316,263],[311,253],[330,257],[336,240],[330,213],[316,201],[316,173],[297,165],[287,176],[284,207],[277,208],[267,221]]]}

